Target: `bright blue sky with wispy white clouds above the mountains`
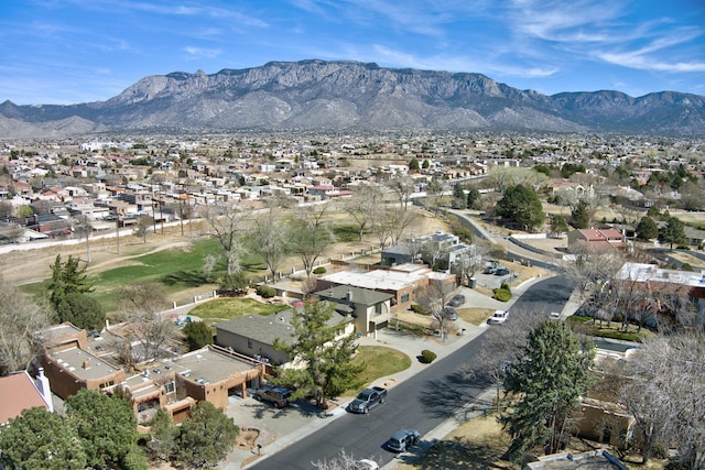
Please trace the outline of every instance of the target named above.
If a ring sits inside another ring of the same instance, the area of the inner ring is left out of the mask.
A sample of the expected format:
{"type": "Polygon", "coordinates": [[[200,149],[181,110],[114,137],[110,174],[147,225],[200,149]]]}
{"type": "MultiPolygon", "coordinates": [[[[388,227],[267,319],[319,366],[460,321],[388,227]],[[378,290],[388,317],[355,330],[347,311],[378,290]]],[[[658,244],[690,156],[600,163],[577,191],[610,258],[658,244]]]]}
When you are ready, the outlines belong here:
{"type": "Polygon", "coordinates": [[[0,0],[0,102],[149,75],[349,59],[521,89],[705,95],[703,0],[0,0]]]}

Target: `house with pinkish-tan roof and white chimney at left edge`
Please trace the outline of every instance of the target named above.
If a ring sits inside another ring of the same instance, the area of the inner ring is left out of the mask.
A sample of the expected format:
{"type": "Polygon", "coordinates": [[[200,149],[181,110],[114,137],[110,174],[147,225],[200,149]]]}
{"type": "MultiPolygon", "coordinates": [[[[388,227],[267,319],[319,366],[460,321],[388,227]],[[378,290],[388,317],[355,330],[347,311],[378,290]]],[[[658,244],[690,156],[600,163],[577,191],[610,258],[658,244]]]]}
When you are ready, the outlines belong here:
{"type": "Polygon", "coordinates": [[[52,392],[44,370],[32,378],[26,371],[0,378],[0,427],[22,414],[24,409],[41,407],[54,411],[52,392]]]}

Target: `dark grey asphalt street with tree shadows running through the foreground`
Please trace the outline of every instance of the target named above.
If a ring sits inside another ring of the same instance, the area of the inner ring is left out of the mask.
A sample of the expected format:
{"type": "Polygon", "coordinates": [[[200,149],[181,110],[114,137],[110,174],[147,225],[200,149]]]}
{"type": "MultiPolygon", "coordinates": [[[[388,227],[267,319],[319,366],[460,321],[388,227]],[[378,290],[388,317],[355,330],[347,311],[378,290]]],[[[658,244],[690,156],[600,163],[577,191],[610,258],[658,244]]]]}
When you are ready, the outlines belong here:
{"type": "MultiPolygon", "coordinates": [[[[573,285],[567,276],[551,277],[530,287],[512,310],[561,311],[573,285]]],[[[330,459],[341,449],[356,458],[372,458],[380,467],[395,455],[384,442],[402,428],[417,429],[422,436],[451,417],[460,417],[463,405],[481,392],[464,379],[463,365],[484,347],[482,336],[441,359],[389,391],[387,403],[368,415],[348,414],[318,429],[289,448],[267,458],[252,469],[313,469],[312,462],[330,459]]],[[[404,458],[403,456],[401,457],[404,458]]]]}

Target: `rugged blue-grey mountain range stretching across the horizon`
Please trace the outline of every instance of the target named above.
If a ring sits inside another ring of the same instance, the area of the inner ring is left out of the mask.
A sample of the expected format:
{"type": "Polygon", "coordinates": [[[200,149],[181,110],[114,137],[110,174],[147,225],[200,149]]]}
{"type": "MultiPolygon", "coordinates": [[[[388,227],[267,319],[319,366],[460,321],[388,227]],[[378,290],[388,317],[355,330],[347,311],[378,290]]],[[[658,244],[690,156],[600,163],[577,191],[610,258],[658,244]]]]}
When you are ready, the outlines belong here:
{"type": "Polygon", "coordinates": [[[0,136],[110,131],[509,130],[702,135],[705,97],[661,91],[546,96],[481,74],[359,62],[270,62],[142,78],[106,101],[0,103],[0,136]]]}

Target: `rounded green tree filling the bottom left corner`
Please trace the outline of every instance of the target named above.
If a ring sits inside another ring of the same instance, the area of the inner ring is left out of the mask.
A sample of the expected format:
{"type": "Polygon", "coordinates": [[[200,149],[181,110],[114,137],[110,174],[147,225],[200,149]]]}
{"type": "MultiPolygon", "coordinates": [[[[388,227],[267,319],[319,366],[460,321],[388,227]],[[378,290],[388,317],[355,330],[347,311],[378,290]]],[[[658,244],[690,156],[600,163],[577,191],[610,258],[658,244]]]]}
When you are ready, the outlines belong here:
{"type": "Polygon", "coordinates": [[[0,467],[83,470],[86,452],[76,431],[57,414],[28,408],[0,430],[0,467]]]}

